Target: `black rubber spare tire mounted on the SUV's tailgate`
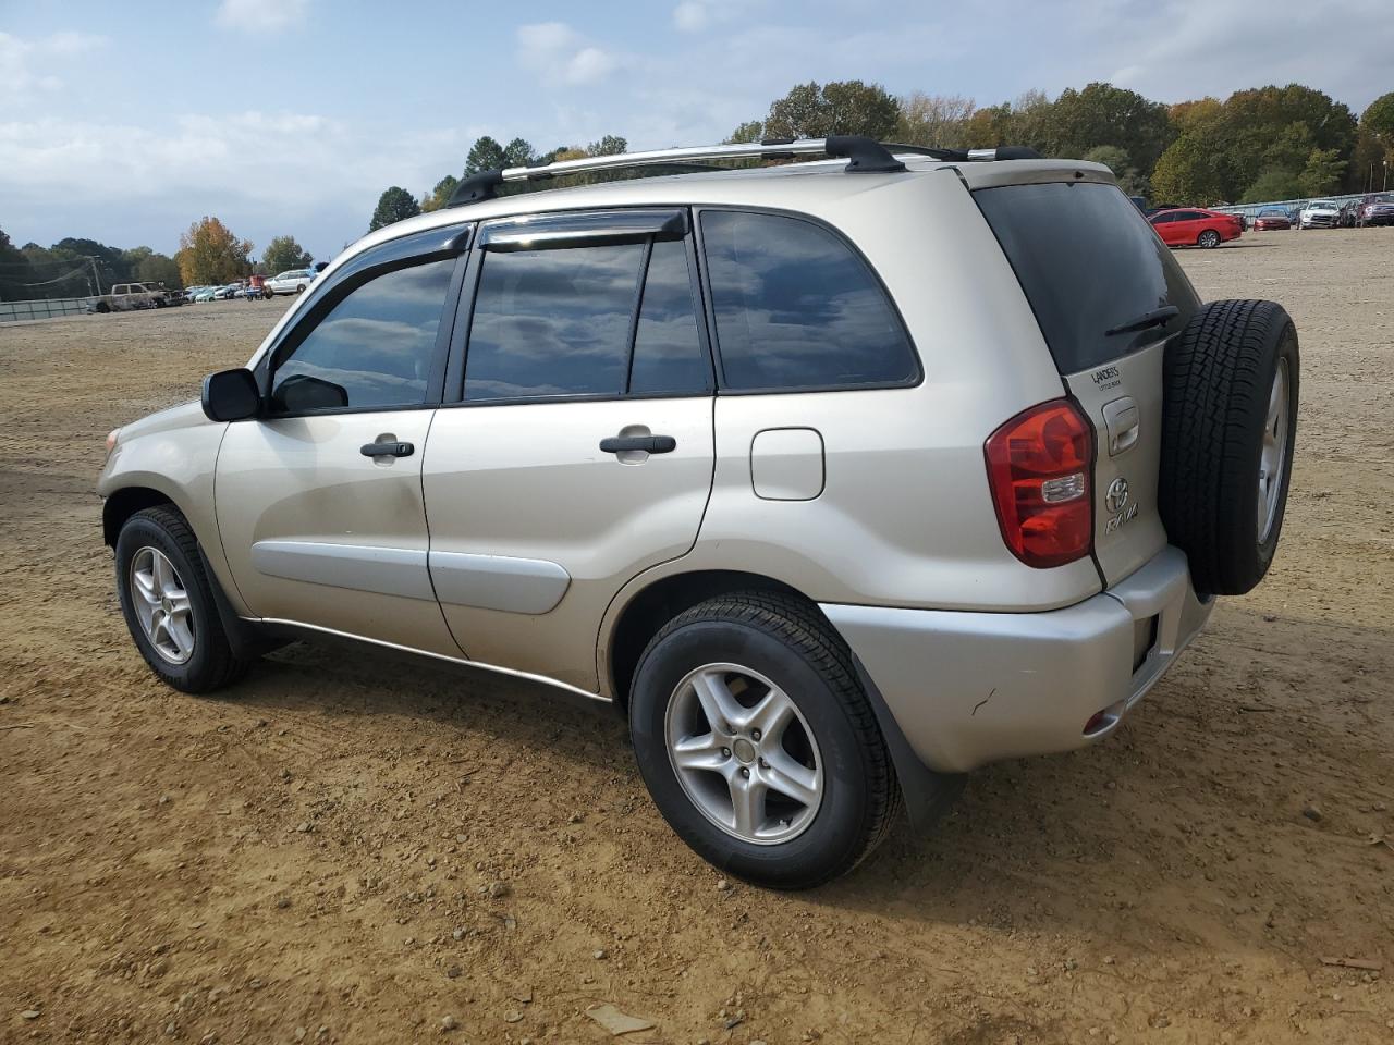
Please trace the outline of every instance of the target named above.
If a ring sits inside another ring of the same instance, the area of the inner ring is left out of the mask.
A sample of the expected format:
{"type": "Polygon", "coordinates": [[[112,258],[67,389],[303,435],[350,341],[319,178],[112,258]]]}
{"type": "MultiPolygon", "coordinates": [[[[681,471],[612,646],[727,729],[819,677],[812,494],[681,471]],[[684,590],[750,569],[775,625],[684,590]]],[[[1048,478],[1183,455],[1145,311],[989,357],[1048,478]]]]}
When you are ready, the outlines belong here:
{"type": "Polygon", "coordinates": [[[1202,594],[1243,595],[1273,563],[1292,475],[1299,371],[1296,327],[1273,301],[1213,301],[1167,348],[1158,503],[1202,594]],[[1263,532],[1260,456],[1280,366],[1285,453],[1263,532]]]}

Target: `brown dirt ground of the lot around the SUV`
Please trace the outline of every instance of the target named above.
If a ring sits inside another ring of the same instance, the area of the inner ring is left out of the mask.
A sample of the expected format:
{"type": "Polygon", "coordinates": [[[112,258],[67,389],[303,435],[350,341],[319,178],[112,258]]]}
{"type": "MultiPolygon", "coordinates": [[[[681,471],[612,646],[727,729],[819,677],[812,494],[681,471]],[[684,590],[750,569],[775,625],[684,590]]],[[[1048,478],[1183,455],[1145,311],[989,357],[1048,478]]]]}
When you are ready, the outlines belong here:
{"type": "Polygon", "coordinates": [[[158,684],[102,440],[280,307],[0,327],[0,1041],[1390,1042],[1394,229],[1181,258],[1301,330],[1267,582],[1107,743],[793,896],[719,888],[537,687],[350,645],[158,684]]]}

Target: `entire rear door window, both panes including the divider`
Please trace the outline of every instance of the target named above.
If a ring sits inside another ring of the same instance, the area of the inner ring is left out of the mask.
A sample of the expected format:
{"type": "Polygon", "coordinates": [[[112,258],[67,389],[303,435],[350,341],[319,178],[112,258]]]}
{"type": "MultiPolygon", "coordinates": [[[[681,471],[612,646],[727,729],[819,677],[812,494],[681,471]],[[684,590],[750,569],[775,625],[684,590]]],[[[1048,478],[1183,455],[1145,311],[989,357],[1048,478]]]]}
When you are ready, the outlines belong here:
{"type": "Polygon", "coordinates": [[[683,241],[484,254],[466,401],[707,387],[683,241]]]}

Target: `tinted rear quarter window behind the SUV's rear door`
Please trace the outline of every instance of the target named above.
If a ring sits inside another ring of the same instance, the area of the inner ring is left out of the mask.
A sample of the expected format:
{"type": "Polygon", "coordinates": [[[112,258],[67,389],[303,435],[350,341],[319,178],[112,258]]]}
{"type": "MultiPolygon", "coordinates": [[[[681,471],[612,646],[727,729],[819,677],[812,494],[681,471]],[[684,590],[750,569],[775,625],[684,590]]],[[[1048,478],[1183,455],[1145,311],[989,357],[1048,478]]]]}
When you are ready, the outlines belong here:
{"type": "Polygon", "coordinates": [[[723,210],[704,212],[701,227],[728,387],[914,379],[909,340],[885,293],[832,233],[793,217],[723,210]]]}

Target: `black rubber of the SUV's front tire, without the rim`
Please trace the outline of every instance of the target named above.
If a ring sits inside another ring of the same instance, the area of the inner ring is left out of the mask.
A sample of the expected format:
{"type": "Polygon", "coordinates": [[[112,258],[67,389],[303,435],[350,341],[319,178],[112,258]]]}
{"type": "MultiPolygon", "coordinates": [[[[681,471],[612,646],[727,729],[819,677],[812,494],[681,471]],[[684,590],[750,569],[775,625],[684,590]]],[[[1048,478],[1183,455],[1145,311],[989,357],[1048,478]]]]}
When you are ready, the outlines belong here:
{"type": "Polygon", "coordinates": [[[173,507],[137,511],[121,527],[116,539],[116,589],[137,649],[151,670],[176,690],[212,692],[236,681],[247,670],[250,662],[233,656],[227,642],[194,531],[173,507]],[[163,656],[137,617],[131,592],[131,560],[144,548],[162,552],[188,592],[194,649],[184,663],[171,663],[163,656]]]}

